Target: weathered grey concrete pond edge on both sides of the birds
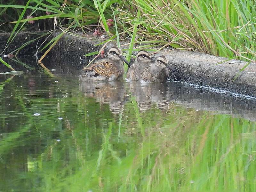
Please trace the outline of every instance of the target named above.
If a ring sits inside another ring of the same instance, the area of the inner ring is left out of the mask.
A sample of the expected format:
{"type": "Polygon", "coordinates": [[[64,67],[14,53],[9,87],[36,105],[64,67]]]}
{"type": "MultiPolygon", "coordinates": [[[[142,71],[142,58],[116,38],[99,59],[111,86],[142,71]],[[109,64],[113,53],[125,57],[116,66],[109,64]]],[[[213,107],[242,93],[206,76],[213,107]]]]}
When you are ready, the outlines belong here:
{"type": "MultiPolygon", "coordinates": [[[[59,33],[54,33],[52,36],[56,36],[58,34],[59,33]]],[[[36,35],[35,33],[18,34],[14,42],[12,42],[4,54],[8,54],[9,52],[15,50],[18,45],[20,46],[28,40],[38,36],[39,35],[36,35]]],[[[9,34],[0,34],[0,53],[2,53],[8,37],[9,34]]],[[[46,36],[41,38],[38,45],[42,44],[45,38],[46,36]]],[[[48,38],[44,42],[43,46],[50,39],[52,38],[48,38]]],[[[102,39],[90,36],[79,38],[65,34],[47,55],[45,61],[50,60],[52,63],[56,62],[59,64],[65,64],[68,62],[69,65],[72,65],[72,67],[79,70],[93,58],[93,56],[84,57],[83,55],[99,50],[100,46],[96,47],[95,45],[102,41],[102,39]]],[[[37,41],[34,41],[29,46],[22,49],[19,53],[23,55],[35,54],[36,44],[37,41]]],[[[215,57],[213,55],[198,52],[174,50],[159,52],[158,54],[154,55],[154,57],[159,54],[165,54],[170,62],[170,65],[175,68],[175,73],[171,75],[174,80],[256,96],[255,63],[249,64],[244,71],[240,72],[240,69],[246,65],[246,62],[230,60],[222,64],[218,64],[219,62],[227,60],[227,58],[215,57]]]]}

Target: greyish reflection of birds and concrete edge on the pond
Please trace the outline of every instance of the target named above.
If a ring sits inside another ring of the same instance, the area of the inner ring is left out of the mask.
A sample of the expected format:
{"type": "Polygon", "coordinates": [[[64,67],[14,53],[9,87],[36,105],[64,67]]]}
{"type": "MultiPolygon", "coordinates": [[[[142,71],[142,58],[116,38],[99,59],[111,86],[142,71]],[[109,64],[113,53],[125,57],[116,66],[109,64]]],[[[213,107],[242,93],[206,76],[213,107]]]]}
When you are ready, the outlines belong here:
{"type": "Polygon", "coordinates": [[[168,112],[170,106],[179,104],[200,111],[229,114],[256,121],[256,101],[189,86],[177,82],[141,84],[140,82],[80,82],[79,89],[85,97],[108,103],[110,111],[119,113],[124,103],[134,97],[141,112],[157,106],[168,112]]]}

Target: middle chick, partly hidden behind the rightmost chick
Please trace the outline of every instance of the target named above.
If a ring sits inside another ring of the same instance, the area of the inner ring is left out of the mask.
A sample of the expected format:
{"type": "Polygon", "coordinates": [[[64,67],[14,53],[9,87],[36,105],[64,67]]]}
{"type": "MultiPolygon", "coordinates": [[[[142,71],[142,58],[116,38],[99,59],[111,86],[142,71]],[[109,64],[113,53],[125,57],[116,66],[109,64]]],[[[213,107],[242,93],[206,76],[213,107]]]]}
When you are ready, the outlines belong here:
{"type": "Polygon", "coordinates": [[[134,63],[127,71],[128,81],[140,81],[143,69],[154,63],[155,59],[151,58],[147,51],[141,50],[137,53],[134,63]]]}

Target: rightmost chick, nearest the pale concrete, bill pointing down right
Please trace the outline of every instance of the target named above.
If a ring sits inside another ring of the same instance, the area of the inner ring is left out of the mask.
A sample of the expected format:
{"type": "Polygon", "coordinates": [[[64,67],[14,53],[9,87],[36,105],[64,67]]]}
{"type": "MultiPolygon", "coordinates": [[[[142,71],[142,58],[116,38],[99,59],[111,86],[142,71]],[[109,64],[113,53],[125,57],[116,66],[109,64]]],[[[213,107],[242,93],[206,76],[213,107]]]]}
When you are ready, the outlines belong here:
{"type": "Polygon", "coordinates": [[[168,66],[167,62],[168,61],[164,55],[157,57],[155,63],[150,64],[143,70],[141,82],[166,82],[168,74],[170,73],[167,68],[174,72],[174,69],[168,66]]]}

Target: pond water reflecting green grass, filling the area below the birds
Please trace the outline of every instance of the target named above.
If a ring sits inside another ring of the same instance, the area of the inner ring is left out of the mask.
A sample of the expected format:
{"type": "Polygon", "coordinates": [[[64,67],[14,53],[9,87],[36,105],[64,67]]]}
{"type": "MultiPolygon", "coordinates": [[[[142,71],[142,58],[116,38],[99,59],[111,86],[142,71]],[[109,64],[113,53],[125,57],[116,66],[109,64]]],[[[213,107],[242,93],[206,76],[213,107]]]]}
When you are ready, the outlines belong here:
{"type": "Polygon", "coordinates": [[[0,191],[256,191],[253,100],[175,82],[0,79],[0,191]]]}

